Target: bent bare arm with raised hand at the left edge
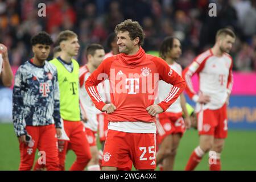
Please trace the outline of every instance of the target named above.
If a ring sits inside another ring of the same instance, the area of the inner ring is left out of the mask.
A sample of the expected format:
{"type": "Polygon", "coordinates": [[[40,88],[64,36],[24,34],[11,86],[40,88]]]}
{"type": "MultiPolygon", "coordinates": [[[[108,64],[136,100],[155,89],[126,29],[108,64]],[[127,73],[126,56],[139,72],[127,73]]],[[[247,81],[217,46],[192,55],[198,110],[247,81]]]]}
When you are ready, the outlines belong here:
{"type": "Polygon", "coordinates": [[[7,47],[0,44],[0,80],[3,86],[11,86],[13,84],[13,71],[8,58],[7,47]]]}

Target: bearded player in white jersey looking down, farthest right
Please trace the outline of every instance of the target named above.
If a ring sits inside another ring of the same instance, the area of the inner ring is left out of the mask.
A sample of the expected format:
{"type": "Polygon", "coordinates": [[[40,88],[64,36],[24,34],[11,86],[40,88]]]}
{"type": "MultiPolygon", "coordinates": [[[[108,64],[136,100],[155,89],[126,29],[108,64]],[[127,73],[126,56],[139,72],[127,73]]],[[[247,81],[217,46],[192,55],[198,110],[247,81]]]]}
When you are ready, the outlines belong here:
{"type": "Polygon", "coordinates": [[[228,134],[226,104],[232,90],[232,57],[228,54],[236,35],[229,28],[218,30],[213,48],[201,53],[184,70],[187,93],[196,102],[197,129],[200,144],[192,152],[185,170],[193,170],[209,151],[210,170],[220,170],[220,154],[228,134]],[[200,88],[197,94],[191,77],[199,74],[200,88]]]}

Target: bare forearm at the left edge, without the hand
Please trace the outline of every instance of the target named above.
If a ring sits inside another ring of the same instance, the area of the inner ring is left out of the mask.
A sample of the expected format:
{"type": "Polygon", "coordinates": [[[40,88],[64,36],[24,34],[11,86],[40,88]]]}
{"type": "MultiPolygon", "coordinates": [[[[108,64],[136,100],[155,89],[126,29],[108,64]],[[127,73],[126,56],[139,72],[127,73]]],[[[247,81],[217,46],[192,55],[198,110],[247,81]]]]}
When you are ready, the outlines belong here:
{"type": "Polygon", "coordinates": [[[1,73],[1,79],[3,85],[5,86],[10,87],[13,84],[13,71],[11,71],[11,65],[7,57],[3,59],[3,71],[1,73]]]}

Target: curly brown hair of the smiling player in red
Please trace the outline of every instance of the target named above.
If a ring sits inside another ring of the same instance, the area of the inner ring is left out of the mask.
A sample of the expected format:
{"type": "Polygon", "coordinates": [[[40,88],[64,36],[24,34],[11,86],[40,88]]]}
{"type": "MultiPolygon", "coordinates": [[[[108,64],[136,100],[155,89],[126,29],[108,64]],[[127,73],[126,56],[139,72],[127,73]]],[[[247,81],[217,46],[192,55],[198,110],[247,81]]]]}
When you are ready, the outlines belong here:
{"type": "Polygon", "coordinates": [[[143,45],[145,34],[139,22],[126,19],[122,23],[119,23],[117,26],[115,26],[115,34],[125,31],[129,32],[131,40],[139,38],[139,46],[143,45]]]}

